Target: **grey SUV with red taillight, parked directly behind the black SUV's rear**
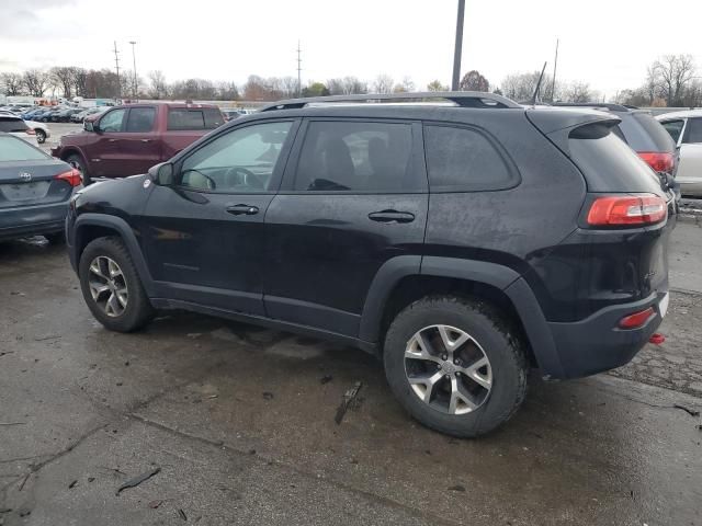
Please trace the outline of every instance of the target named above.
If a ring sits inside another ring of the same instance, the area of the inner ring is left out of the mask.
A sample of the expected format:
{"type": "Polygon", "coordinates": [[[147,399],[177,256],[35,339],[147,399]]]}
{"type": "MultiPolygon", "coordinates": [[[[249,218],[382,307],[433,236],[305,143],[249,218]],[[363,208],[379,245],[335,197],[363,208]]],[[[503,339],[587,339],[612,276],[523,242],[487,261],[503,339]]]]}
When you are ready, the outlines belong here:
{"type": "Polygon", "coordinates": [[[646,163],[676,186],[675,173],[678,162],[676,145],[665,128],[648,110],[610,103],[555,103],[556,106],[590,107],[616,115],[622,122],[613,132],[626,142],[646,163]]]}

